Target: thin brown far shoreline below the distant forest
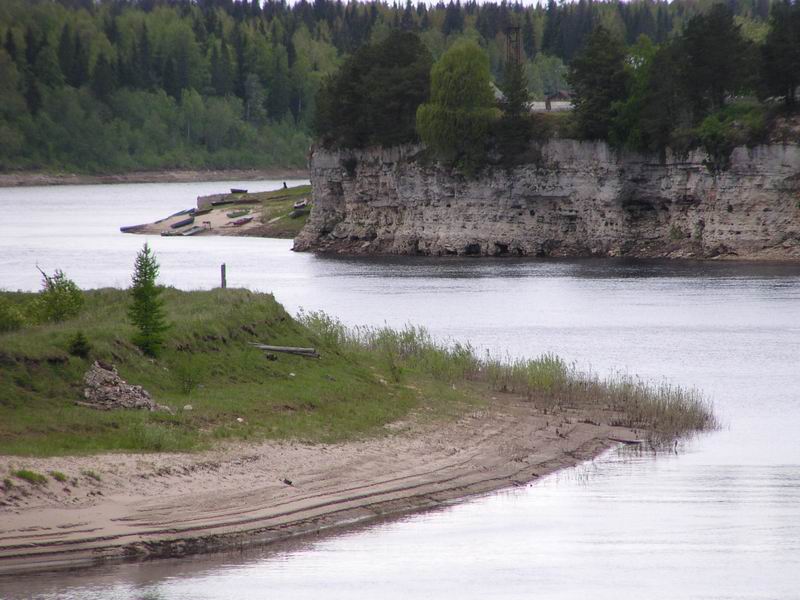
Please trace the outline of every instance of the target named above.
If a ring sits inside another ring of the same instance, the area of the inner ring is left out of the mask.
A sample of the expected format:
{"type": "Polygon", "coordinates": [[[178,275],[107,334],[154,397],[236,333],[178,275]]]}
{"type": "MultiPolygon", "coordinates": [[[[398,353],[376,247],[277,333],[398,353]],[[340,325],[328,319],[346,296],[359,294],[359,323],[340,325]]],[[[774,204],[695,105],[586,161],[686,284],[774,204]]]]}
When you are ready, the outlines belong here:
{"type": "Polygon", "coordinates": [[[0,188],[44,185],[99,185],[113,183],[192,183],[198,181],[259,181],[263,179],[308,179],[306,169],[166,169],[132,171],[103,175],[40,173],[20,171],[0,173],[0,188]]]}

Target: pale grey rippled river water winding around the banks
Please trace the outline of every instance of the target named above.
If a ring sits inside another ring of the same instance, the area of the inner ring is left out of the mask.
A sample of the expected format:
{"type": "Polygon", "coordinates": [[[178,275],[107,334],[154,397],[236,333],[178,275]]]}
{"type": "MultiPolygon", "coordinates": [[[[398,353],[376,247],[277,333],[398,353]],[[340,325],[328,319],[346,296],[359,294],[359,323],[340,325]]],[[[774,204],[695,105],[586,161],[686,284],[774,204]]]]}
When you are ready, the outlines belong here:
{"type": "MultiPolygon", "coordinates": [[[[227,187],[0,190],[0,288],[38,264],[127,286],[150,221],[227,187]]],[[[421,324],[511,356],[697,386],[721,431],[677,453],[611,451],[536,484],[318,540],[0,580],[0,597],[800,598],[800,266],[625,260],[343,259],[252,238],[151,237],[162,281],[273,292],[290,311],[421,324]]],[[[0,342],[1,343],[1,342],[0,342]]]]}

